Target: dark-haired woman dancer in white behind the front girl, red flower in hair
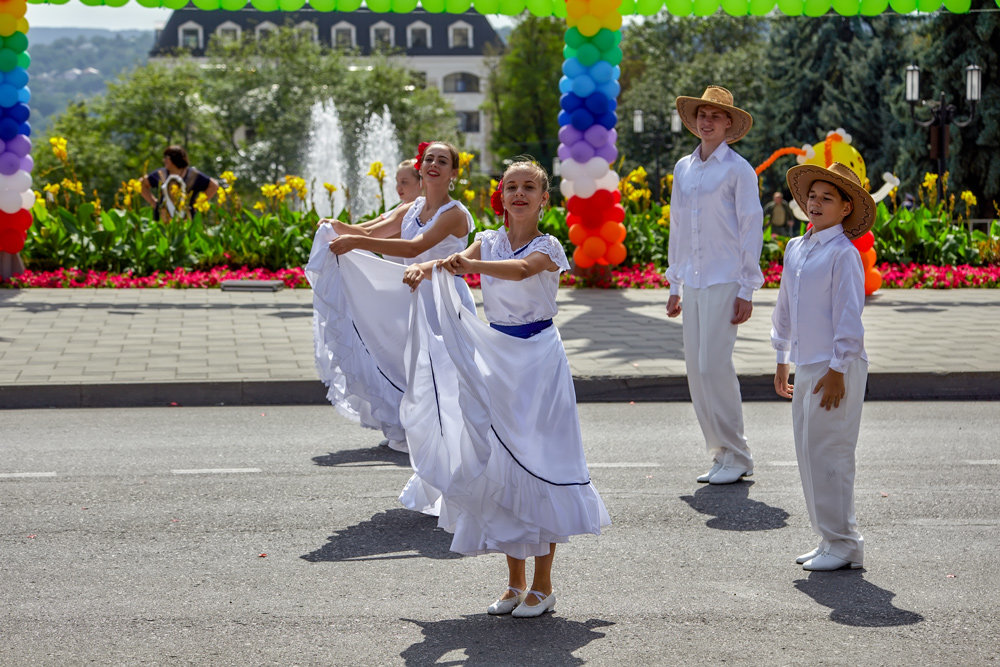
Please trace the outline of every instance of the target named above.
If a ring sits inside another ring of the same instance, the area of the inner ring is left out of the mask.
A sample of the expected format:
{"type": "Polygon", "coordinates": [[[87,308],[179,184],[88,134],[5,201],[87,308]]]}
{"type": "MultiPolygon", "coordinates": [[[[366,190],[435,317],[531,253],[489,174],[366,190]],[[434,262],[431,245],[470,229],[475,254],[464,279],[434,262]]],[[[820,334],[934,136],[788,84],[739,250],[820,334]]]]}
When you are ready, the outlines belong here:
{"type": "MultiPolygon", "coordinates": [[[[473,229],[469,212],[448,196],[458,152],[435,142],[420,157],[425,197],[367,227],[324,221],[306,266],[313,287],[316,368],[329,388],[327,398],[346,417],[381,429],[399,451],[406,451],[399,402],[406,388],[403,349],[411,299],[402,284],[404,267],[372,253],[404,263],[440,259],[464,249],[473,229]],[[350,252],[354,249],[359,251],[350,252]]],[[[474,312],[465,282],[455,287],[474,312]]]]}

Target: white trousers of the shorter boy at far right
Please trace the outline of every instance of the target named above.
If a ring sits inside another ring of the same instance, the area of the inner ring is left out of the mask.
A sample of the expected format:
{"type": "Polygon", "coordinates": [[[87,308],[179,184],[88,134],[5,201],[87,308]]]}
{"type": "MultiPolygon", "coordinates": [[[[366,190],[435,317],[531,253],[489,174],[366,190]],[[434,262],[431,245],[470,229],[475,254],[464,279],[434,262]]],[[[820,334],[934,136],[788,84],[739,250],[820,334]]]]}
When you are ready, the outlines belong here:
{"type": "Polygon", "coordinates": [[[844,373],[844,398],[831,410],[820,407],[822,391],[813,393],[829,364],[795,368],[792,428],[802,491],[813,532],[821,547],[854,563],[864,562],[864,538],[854,514],[854,450],[861,428],[868,362],[857,359],[844,373]]]}

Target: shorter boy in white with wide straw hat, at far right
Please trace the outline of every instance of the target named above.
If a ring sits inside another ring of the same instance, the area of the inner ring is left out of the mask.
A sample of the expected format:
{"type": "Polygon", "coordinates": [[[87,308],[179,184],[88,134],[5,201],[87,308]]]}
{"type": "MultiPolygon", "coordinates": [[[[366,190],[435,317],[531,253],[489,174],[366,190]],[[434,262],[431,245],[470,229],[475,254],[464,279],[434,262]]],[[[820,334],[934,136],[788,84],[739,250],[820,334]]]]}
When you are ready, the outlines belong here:
{"type": "Polygon", "coordinates": [[[787,181],[811,227],[785,248],[771,317],[771,344],[778,353],[774,389],[792,399],[802,490],[821,540],[795,562],[806,570],[860,568],[864,540],[854,516],[854,450],[868,358],[861,325],[864,268],[851,241],[871,228],[875,201],[839,162],[792,167],[787,181]],[[790,361],[794,388],[788,383],[790,361]]]}

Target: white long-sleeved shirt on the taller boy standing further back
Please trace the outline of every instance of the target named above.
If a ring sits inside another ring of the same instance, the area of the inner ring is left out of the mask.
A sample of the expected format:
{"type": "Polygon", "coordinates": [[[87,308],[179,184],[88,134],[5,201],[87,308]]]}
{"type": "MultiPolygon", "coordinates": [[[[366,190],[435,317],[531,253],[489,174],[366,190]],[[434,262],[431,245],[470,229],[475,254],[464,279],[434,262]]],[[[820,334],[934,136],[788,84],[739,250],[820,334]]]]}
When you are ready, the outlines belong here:
{"type": "Polygon", "coordinates": [[[739,283],[737,296],[749,301],[764,284],[763,221],[757,174],[728,144],[707,160],[700,145],[681,158],[670,198],[670,294],[680,294],[681,285],[739,283]]]}

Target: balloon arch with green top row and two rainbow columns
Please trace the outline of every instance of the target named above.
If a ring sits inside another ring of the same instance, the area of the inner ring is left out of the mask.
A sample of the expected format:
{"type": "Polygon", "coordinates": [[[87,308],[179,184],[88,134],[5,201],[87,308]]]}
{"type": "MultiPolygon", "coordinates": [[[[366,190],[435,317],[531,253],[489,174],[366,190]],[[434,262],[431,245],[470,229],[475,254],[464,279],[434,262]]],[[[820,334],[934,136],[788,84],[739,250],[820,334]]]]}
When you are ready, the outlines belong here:
{"type": "MultiPolygon", "coordinates": [[[[251,4],[260,11],[296,11],[305,0],[192,0],[199,9],[237,11],[251,4]]],[[[51,2],[48,4],[65,4],[51,2]]],[[[120,7],[128,0],[81,0],[86,5],[120,7]]],[[[181,9],[187,0],[137,0],[144,7],[181,9]]],[[[996,0],[1000,5],[1000,0],[996,0]]],[[[373,12],[407,13],[418,0],[367,0],[373,12]]],[[[45,4],[32,0],[32,4],[45,4]]],[[[321,12],[351,12],[362,0],[311,0],[321,12]]],[[[625,259],[625,211],[620,204],[618,175],[611,164],[618,156],[615,124],[622,59],[622,17],[652,16],[666,9],[674,16],[709,16],[720,7],[733,16],[761,16],[778,11],[787,16],[876,15],[888,9],[900,14],[935,12],[942,6],[967,13],[971,0],[421,0],[428,12],[518,15],[566,19],[562,93],[559,113],[559,157],[567,223],[577,246],[576,264],[615,265],[625,259]]],[[[31,91],[28,88],[28,21],[25,0],[0,0],[0,251],[17,253],[31,226],[35,195],[31,187],[31,91]]]]}

